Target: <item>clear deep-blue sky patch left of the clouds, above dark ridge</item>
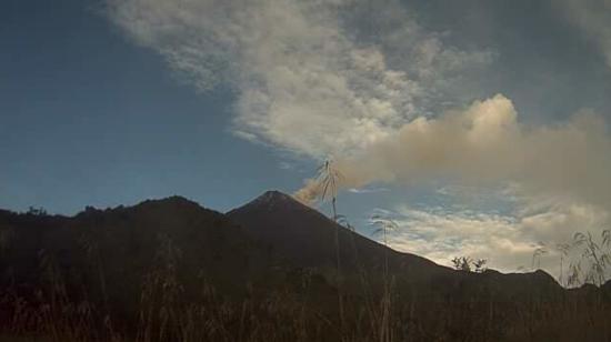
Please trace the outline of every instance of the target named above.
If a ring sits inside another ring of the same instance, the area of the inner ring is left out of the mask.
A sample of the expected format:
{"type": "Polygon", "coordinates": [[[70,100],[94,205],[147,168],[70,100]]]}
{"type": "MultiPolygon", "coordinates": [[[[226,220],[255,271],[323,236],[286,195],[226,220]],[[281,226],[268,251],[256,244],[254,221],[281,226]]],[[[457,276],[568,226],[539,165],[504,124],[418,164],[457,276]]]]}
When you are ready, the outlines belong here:
{"type": "Polygon", "coordinates": [[[181,83],[96,2],[3,1],[0,16],[0,207],[182,194],[227,210],[300,185],[281,155],[228,132],[230,90],[181,83]]]}

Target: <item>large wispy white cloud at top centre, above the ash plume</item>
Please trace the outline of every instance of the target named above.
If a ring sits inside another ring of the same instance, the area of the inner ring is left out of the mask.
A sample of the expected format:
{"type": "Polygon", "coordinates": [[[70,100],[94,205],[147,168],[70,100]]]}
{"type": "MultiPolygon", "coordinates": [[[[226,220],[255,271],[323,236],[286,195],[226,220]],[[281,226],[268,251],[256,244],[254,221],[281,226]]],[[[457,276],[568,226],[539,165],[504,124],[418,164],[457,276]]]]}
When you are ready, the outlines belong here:
{"type": "Polygon", "coordinates": [[[201,90],[229,83],[233,130],[298,154],[345,155],[439,107],[490,53],[447,47],[398,1],[108,0],[110,18],[201,90]],[[391,22],[389,22],[391,19],[391,22]],[[389,64],[392,62],[392,66],[389,64]],[[439,101],[441,102],[441,101],[439,101]]]}

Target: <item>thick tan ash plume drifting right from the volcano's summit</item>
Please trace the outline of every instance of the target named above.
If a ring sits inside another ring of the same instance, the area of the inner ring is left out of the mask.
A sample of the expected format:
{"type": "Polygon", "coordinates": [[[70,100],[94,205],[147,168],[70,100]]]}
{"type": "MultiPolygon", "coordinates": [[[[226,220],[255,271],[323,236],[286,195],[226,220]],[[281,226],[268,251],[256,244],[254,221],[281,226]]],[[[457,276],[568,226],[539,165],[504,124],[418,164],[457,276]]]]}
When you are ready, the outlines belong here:
{"type": "Polygon", "coordinates": [[[582,111],[567,122],[525,127],[498,94],[463,111],[417,118],[358,155],[339,159],[347,187],[372,182],[512,184],[521,195],[570,198],[609,208],[611,139],[582,111]]]}

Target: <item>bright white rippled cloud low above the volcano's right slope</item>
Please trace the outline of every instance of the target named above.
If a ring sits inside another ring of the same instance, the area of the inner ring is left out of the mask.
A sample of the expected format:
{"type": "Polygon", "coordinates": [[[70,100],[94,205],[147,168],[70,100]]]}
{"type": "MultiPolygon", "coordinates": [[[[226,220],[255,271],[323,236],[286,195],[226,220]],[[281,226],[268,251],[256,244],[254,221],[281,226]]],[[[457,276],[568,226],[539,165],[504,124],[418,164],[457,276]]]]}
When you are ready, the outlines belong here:
{"type": "Polygon", "coordinates": [[[560,274],[557,245],[570,242],[575,230],[600,235],[609,222],[605,211],[574,203],[528,208],[513,214],[402,205],[394,215],[400,230],[390,244],[398,250],[445,265],[454,256],[481,258],[493,269],[513,272],[530,270],[534,250],[543,247],[548,253],[535,260],[534,268],[555,276],[560,274]]]}

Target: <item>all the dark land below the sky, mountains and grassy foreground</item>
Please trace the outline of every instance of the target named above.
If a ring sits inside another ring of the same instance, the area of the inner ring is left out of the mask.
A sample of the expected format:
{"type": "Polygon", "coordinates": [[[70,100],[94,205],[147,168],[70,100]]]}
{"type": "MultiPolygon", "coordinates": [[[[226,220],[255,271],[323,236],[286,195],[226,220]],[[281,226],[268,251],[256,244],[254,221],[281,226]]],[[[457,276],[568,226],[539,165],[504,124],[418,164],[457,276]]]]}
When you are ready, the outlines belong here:
{"type": "Polygon", "coordinates": [[[0,211],[0,340],[611,341],[611,282],[451,270],[279,192],[0,211]]]}

